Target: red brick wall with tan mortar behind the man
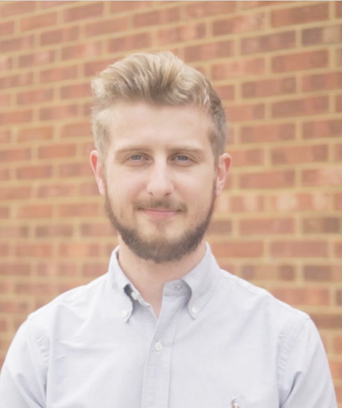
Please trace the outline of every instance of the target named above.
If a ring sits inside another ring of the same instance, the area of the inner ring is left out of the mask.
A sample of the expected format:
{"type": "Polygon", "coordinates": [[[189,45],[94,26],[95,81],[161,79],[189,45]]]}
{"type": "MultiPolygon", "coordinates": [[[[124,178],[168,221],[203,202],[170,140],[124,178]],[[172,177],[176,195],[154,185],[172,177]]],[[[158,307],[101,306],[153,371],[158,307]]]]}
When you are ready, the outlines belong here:
{"type": "Polygon", "coordinates": [[[0,18],[0,358],[117,242],[88,165],[91,77],[173,50],[231,124],[213,251],[311,314],[342,404],[342,2],[9,1],[0,18]]]}

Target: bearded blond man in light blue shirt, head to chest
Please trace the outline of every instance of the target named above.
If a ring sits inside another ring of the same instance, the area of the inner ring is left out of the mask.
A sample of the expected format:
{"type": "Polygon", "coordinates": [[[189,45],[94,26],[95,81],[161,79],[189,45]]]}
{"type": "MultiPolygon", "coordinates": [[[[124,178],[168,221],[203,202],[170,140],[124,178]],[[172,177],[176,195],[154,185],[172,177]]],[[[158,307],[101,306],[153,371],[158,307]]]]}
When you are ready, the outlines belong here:
{"type": "Polygon", "coordinates": [[[309,316],[221,271],[204,235],[230,165],[221,102],[171,53],[93,81],[109,271],[32,313],[1,408],[336,408],[309,316]]]}

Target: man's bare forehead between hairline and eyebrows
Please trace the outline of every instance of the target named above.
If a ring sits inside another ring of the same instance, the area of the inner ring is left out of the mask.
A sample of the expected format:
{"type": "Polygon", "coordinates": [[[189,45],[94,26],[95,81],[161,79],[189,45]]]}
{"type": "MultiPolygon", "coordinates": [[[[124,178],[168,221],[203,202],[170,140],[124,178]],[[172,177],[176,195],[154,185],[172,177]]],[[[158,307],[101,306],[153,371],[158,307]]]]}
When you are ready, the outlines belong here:
{"type": "Polygon", "coordinates": [[[120,103],[108,110],[106,122],[114,149],[134,144],[210,146],[211,121],[202,109],[194,106],[120,103]]]}

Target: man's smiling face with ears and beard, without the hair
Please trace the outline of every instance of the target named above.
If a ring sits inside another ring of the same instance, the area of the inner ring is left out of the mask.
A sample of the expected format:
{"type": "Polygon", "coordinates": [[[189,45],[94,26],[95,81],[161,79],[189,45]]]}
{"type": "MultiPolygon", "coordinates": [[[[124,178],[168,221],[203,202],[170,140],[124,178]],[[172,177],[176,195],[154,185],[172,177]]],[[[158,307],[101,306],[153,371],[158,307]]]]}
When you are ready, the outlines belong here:
{"type": "Polygon", "coordinates": [[[140,258],[179,260],[203,239],[228,155],[216,168],[198,108],[121,103],[112,112],[105,166],[91,158],[109,219],[140,258]]]}

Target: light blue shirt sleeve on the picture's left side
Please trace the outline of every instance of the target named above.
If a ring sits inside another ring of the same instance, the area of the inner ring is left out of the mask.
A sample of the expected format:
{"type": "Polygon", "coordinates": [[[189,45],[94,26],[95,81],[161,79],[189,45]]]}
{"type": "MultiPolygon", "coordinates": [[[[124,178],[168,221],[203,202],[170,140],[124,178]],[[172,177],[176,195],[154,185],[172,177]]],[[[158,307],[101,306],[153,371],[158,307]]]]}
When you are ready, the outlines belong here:
{"type": "Polygon", "coordinates": [[[43,338],[26,320],[8,350],[0,375],[0,408],[45,408],[43,338]]]}

